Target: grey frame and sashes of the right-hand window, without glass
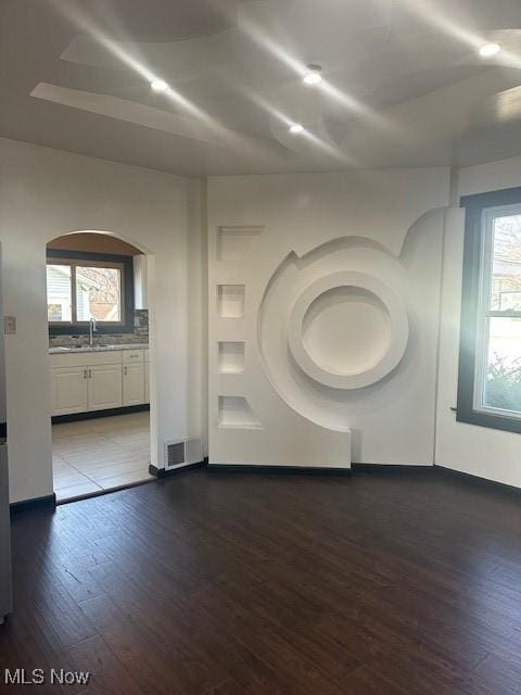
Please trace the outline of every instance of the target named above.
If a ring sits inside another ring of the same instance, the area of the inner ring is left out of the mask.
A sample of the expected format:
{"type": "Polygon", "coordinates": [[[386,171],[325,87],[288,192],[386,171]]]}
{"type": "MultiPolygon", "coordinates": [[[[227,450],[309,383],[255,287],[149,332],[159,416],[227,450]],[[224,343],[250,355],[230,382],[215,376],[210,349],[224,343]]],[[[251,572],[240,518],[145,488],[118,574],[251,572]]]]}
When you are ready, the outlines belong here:
{"type": "Polygon", "coordinates": [[[495,316],[509,318],[514,314],[517,318],[520,315],[520,312],[500,312],[490,307],[485,312],[484,302],[485,298],[490,301],[492,279],[491,223],[500,212],[511,212],[516,206],[521,212],[521,187],[466,195],[461,198],[460,206],[465,207],[466,217],[456,419],[459,422],[521,433],[521,413],[484,406],[479,396],[488,341],[488,331],[483,330],[483,320],[485,317],[488,320],[495,316]],[[485,263],[491,269],[486,285],[483,281],[485,263]]]}

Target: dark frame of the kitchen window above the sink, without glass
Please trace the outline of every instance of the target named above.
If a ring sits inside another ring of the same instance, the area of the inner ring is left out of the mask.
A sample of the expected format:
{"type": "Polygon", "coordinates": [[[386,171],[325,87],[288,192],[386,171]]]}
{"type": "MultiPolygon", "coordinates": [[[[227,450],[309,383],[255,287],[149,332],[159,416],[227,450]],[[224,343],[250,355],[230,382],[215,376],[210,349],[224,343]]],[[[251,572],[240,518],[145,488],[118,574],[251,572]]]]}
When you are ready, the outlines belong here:
{"type": "Polygon", "coordinates": [[[120,269],[120,321],[98,321],[97,333],[134,333],[134,258],[132,256],[113,255],[107,253],[91,253],[84,251],[66,251],[62,249],[47,249],[47,265],[71,265],[72,288],[72,320],[48,321],[50,336],[85,336],[89,333],[89,321],[75,321],[76,318],[76,267],[87,267],[88,264],[99,267],[117,267],[120,269]]]}

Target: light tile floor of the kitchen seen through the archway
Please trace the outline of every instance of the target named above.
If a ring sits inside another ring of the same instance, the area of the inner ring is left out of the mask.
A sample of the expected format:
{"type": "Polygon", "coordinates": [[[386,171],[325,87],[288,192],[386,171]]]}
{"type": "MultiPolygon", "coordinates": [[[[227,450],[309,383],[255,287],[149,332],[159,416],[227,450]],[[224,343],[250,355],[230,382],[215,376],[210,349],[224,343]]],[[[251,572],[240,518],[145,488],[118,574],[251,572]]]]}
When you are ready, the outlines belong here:
{"type": "Polygon", "coordinates": [[[52,426],[52,469],[59,502],[154,480],[149,463],[149,413],[52,426]]]}

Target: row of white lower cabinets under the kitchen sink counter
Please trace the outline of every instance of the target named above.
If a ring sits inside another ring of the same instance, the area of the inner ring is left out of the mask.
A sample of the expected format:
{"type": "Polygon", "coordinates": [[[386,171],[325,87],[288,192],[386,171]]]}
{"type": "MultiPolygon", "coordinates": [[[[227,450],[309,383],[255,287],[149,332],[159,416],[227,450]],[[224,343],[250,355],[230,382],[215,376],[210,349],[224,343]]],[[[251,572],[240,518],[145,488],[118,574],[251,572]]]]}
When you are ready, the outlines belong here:
{"type": "Polygon", "coordinates": [[[52,415],[149,403],[148,369],[142,350],[52,354],[52,415]]]}

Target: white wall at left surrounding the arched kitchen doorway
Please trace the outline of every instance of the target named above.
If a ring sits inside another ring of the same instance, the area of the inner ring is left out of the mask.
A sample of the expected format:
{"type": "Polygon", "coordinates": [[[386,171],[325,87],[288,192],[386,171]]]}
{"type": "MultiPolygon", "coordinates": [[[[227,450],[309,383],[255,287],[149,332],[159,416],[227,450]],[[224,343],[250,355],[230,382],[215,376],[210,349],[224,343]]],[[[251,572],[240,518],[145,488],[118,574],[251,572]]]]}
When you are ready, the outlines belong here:
{"type": "Polygon", "coordinates": [[[0,140],[4,313],[17,318],[16,334],[5,337],[12,502],[52,493],[46,243],[60,235],[110,231],[151,254],[152,462],[163,465],[165,440],[201,435],[201,354],[191,350],[201,303],[196,294],[190,300],[200,287],[202,229],[190,210],[199,206],[199,186],[0,140]]]}

